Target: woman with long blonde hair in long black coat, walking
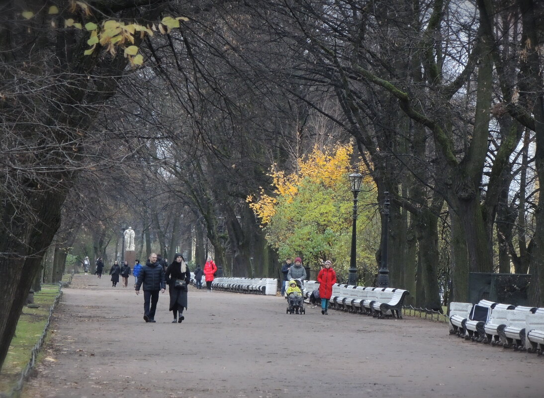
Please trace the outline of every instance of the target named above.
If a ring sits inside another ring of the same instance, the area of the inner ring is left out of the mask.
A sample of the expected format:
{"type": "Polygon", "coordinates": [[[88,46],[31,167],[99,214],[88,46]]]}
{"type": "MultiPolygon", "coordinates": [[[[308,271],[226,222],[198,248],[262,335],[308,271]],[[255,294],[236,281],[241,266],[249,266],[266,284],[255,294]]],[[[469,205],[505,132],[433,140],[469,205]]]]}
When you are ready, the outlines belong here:
{"type": "Polygon", "coordinates": [[[187,308],[187,290],[191,281],[189,267],[181,254],[176,253],[174,262],[166,268],[166,283],[168,284],[168,293],[170,293],[170,308],[174,313],[174,322],[181,322],[185,319],[183,309],[187,308]],[[179,285],[176,281],[184,281],[179,285]],[[180,318],[178,318],[178,313],[180,318]]]}

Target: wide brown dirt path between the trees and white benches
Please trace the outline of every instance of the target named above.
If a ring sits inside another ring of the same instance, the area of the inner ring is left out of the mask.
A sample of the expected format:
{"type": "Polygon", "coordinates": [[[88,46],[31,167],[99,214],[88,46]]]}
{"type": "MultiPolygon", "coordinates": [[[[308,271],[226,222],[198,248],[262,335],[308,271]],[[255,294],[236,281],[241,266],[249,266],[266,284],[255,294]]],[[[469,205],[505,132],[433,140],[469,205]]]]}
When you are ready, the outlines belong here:
{"type": "Polygon", "coordinates": [[[168,292],[146,324],[143,295],[110,285],[76,275],[64,289],[23,398],[544,395],[544,357],[465,341],[445,324],[308,306],[288,315],[281,297],[192,287],[182,324],[168,292]]]}

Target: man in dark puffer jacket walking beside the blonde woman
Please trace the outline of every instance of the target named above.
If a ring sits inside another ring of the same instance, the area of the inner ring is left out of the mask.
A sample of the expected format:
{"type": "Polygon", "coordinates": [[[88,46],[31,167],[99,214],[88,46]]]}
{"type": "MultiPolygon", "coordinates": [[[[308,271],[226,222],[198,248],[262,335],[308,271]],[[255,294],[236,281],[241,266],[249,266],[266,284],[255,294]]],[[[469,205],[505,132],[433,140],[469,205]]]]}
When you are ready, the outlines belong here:
{"type": "Polygon", "coordinates": [[[166,278],[164,269],[157,262],[157,254],[151,253],[147,263],[141,268],[136,282],[136,294],[140,294],[140,286],[144,290],[144,320],[146,322],[155,321],[155,310],[159,301],[159,290],[164,293],[166,289],[166,278]],[[150,308],[151,302],[151,308],[150,308]]]}

